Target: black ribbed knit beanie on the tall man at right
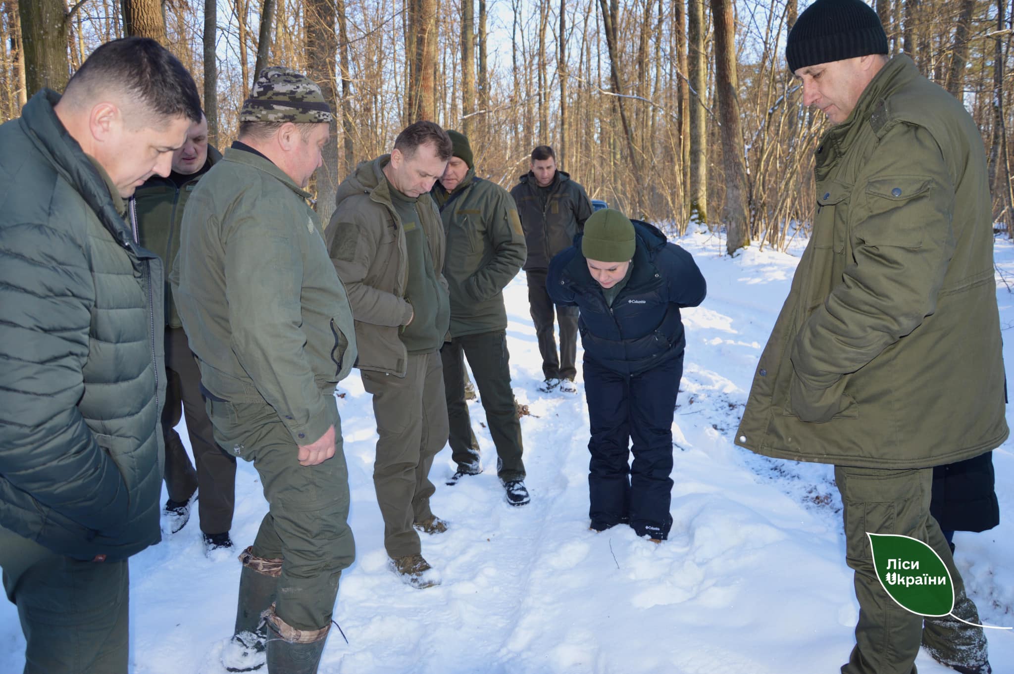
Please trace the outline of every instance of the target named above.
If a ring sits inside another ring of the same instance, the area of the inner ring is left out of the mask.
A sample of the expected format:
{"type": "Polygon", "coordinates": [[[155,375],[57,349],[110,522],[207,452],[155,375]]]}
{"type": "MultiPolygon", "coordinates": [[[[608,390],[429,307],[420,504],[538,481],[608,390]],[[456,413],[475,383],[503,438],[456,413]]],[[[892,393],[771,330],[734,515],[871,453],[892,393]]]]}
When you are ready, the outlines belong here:
{"type": "Polygon", "coordinates": [[[817,0],[807,7],[785,41],[789,70],[887,54],[880,17],[863,0],[817,0]]]}

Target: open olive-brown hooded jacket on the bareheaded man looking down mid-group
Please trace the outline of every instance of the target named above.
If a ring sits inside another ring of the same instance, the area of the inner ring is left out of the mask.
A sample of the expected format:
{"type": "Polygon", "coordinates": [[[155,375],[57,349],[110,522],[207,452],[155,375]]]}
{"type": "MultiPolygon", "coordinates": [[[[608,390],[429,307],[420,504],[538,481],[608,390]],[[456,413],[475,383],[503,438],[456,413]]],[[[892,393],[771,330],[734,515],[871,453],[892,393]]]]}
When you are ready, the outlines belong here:
{"type": "MultiPolygon", "coordinates": [[[[389,160],[385,154],[364,161],[338,185],[324,238],[338,276],[349,290],[356,318],[356,367],[404,377],[408,352],[399,330],[412,317],[412,305],[405,300],[409,258],[402,219],[383,175],[389,160]]],[[[433,270],[440,275],[440,301],[447,302],[447,281],[441,274],[444,232],[440,214],[426,195],[419,198],[416,211],[429,240],[433,270]]]]}

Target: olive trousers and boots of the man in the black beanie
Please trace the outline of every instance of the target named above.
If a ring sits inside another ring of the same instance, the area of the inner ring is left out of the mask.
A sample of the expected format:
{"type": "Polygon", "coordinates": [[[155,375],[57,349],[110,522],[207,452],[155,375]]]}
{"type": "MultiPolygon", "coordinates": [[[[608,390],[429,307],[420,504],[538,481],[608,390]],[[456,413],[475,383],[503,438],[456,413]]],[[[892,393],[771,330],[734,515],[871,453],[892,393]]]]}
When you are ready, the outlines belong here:
{"type": "Polygon", "coordinates": [[[901,534],[932,547],[943,559],[954,582],[953,613],[979,622],[975,605],[964,592],[964,582],[937,521],[930,516],[933,468],[893,470],[835,467],[842,493],[846,559],[855,571],[859,623],[856,647],[842,674],[915,674],[916,656],[925,644],[945,662],[977,666],[987,661],[986,636],[953,618],[926,618],[901,608],[877,580],[869,533],[901,534]]]}

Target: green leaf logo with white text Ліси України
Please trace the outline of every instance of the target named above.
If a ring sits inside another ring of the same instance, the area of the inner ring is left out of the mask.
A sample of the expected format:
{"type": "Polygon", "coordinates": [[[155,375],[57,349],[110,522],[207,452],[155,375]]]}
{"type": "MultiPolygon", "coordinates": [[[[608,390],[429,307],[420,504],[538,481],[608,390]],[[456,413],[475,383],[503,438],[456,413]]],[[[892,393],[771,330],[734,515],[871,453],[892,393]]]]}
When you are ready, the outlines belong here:
{"type": "Polygon", "coordinates": [[[954,608],[954,583],[947,566],[923,541],[897,534],[868,533],[873,567],[890,598],[919,615],[940,617],[954,608]]]}

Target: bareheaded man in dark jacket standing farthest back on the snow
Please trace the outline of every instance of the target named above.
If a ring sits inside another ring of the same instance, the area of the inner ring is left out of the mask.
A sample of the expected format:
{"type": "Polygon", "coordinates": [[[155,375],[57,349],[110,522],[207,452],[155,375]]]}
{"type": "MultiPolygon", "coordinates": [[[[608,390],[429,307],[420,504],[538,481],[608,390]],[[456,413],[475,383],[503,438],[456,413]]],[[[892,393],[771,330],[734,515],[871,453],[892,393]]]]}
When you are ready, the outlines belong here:
{"type": "Polygon", "coordinates": [[[591,202],[584,188],[570,174],[557,168],[556,154],[549,145],[531,151],[531,169],[518,178],[510,191],[524,229],[528,255],[524,272],[528,277],[528,305],[535,324],[538,352],[542,356],[546,381],[540,390],[573,393],[577,376],[577,307],[554,305],[546,292],[550,260],[574,243],[574,235],[584,228],[591,215],[591,202]],[[560,323],[560,354],[554,338],[553,310],[560,323]]]}

